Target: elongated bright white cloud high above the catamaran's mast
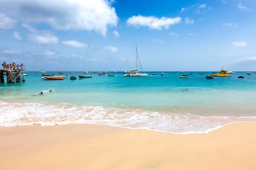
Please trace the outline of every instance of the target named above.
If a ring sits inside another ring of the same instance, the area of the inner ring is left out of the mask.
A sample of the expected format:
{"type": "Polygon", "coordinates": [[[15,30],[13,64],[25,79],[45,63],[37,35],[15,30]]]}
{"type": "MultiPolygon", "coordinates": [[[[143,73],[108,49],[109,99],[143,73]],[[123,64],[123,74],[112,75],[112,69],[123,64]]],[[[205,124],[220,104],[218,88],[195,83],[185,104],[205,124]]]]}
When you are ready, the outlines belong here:
{"type": "Polygon", "coordinates": [[[162,28],[169,28],[169,26],[180,23],[181,17],[168,18],[162,17],[158,18],[155,16],[144,17],[141,15],[132,16],[128,18],[126,23],[130,26],[148,26],[151,29],[162,30],[162,28]]]}

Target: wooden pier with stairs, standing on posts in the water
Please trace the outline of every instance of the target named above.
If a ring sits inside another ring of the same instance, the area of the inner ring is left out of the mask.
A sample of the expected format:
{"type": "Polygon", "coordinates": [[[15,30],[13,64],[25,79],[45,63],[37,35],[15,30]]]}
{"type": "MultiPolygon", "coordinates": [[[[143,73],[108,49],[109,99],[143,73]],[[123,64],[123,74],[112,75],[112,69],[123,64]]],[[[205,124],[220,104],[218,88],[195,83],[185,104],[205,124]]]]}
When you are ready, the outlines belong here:
{"type": "Polygon", "coordinates": [[[23,69],[20,70],[0,70],[0,83],[4,83],[4,75],[8,83],[25,81],[23,77],[23,69]]]}

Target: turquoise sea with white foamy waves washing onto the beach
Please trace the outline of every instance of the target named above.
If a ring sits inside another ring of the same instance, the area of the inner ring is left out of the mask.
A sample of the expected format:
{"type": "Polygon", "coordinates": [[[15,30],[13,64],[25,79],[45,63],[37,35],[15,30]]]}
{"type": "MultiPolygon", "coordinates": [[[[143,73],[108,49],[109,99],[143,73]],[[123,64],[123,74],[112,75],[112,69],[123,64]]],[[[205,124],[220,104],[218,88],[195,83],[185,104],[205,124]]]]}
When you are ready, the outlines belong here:
{"type": "MultiPolygon", "coordinates": [[[[158,73],[158,75],[151,75],[158,73]]],[[[168,133],[205,133],[232,122],[256,119],[256,74],[205,79],[193,73],[148,77],[93,75],[89,79],[43,80],[26,72],[26,82],[0,84],[0,126],[91,123],[168,133]],[[238,79],[238,76],[244,79],[238,79]],[[53,89],[49,93],[49,89],[53,89]],[[189,91],[184,91],[189,88],[189,91]],[[41,91],[42,96],[38,96],[41,91]]],[[[55,74],[58,72],[47,72],[55,74]]],[[[110,72],[110,74],[114,74],[110,72]]]]}

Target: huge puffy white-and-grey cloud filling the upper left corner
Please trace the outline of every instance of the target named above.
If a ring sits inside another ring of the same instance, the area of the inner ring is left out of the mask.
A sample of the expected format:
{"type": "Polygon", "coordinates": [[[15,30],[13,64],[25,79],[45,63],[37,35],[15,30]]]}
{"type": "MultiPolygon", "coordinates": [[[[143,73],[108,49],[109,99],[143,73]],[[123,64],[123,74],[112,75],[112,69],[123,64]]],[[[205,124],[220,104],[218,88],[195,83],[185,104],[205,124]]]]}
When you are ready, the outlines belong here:
{"type": "Polygon", "coordinates": [[[113,0],[0,0],[0,11],[22,23],[46,23],[56,30],[96,31],[106,35],[118,17],[113,0]]]}

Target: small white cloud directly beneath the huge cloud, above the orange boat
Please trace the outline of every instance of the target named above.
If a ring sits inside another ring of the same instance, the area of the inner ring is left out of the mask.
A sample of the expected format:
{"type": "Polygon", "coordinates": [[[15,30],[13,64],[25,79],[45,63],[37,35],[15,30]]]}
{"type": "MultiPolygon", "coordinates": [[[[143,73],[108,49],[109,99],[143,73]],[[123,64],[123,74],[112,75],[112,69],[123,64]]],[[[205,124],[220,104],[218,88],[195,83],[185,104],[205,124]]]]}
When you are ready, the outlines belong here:
{"type": "Polygon", "coordinates": [[[51,35],[50,33],[41,34],[41,35],[35,35],[35,34],[28,34],[28,35],[33,42],[36,42],[39,44],[58,44],[58,38],[51,35]]]}

